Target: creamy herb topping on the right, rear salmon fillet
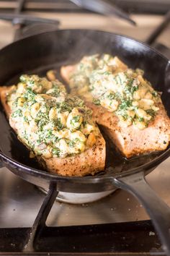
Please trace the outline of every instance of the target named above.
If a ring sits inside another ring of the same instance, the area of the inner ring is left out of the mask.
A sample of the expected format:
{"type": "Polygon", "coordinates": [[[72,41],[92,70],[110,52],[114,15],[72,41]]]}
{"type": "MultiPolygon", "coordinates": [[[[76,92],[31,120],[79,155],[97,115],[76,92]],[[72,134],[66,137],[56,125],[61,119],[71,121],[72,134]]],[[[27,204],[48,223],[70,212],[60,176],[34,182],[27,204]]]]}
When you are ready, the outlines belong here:
{"type": "Polygon", "coordinates": [[[70,75],[71,93],[107,108],[120,124],[145,129],[159,110],[160,95],[143,71],[130,69],[117,56],[84,56],[70,75]]]}

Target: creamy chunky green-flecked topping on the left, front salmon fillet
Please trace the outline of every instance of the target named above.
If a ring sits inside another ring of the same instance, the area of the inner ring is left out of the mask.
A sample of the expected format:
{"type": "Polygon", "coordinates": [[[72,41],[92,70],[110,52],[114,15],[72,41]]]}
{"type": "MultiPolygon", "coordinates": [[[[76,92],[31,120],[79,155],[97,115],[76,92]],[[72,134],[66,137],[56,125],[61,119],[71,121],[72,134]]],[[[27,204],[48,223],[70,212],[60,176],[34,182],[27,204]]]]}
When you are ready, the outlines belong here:
{"type": "Polygon", "coordinates": [[[99,135],[91,110],[80,98],[68,95],[58,80],[22,75],[7,95],[7,103],[12,109],[9,121],[32,150],[30,157],[79,154],[91,148],[99,135]]]}

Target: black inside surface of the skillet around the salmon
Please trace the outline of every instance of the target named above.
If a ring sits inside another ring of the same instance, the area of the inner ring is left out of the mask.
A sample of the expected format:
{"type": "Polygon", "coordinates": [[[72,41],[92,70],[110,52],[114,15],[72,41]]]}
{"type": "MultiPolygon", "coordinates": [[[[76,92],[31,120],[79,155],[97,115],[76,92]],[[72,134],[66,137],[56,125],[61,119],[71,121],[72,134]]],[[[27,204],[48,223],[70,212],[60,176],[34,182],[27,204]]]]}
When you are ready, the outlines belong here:
{"type": "MultiPolygon", "coordinates": [[[[117,55],[131,68],[140,68],[145,71],[145,77],[156,90],[162,91],[164,105],[170,114],[169,89],[165,82],[167,60],[155,51],[130,38],[111,33],[87,30],[61,30],[56,32],[35,35],[8,46],[1,51],[0,56],[0,84],[12,85],[19,80],[20,74],[39,74],[45,76],[49,69],[58,71],[63,64],[78,61],[84,55],[108,53],[117,55]],[[4,58],[3,58],[4,57],[4,58]],[[2,65],[2,61],[4,62],[2,65]]],[[[167,81],[167,79],[166,79],[167,81]]],[[[0,106],[0,149],[9,158],[26,166],[40,169],[37,161],[29,158],[29,151],[22,145],[0,106]]],[[[102,127],[101,131],[102,131],[102,127]]],[[[103,131],[102,131],[103,133],[103,131]]],[[[112,166],[112,174],[129,171],[132,168],[143,166],[161,155],[163,152],[136,156],[125,159],[112,145],[107,135],[106,169],[112,166]]],[[[102,172],[98,175],[107,174],[102,172]]]]}

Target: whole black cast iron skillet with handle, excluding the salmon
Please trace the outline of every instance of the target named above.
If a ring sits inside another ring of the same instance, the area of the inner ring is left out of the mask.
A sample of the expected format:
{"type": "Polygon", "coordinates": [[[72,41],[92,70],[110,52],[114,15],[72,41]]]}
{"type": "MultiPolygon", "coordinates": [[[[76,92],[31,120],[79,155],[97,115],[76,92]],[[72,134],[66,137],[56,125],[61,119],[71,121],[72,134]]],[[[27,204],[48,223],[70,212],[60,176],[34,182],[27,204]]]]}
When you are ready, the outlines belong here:
{"type": "MultiPolygon", "coordinates": [[[[0,85],[12,85],[19,75],[44,75],[48,69],[59,69],[84,55],[109,53],[117,55],[132,68],[145,71],[146,78],[156,90],[162,91],[162,100],[170,114],[169,60],[153,48],[122,35],[95,30],[58,30],[33,35],[12,43],[0,51],[0,85]]],[[[170,210],[153,192],[144,176],[153,171],[170,155],[170,148],[126,160],[107,140],[106,170],[96,176],[63,177],[40,169],[30,160],[24,145],[9,127],[0,106],[0,158],[4,166],[22,179],[40,187],[55,183],[60,192],[93,193],[112,190],[115,187],[128,190],[146,208],[158,231],[164,249],[170,255],[170,210]]],[[[161,125],[161,124],[160,124],[161,125]]]]}

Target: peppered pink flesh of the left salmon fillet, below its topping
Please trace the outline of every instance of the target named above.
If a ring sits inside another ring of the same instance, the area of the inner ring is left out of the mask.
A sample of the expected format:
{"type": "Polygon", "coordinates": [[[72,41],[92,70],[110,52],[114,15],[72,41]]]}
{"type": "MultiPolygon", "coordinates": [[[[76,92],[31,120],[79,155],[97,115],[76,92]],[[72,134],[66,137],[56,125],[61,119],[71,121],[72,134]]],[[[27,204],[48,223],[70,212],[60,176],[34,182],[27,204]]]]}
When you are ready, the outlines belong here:
{"type": "MultiPolygon", "coordinates": [[[[0,88],[0,99],[4,106],[4,111],[9,119],[10,126],[18,135],[17,123],[12,121],[10,115],[12,113],[11,108],[7,104],[7,98],[9,91],[12,87],[1,87],[0,88]]],[[[22,138],[18,139],[24,144],[22,138]]],[[[27,145],[26,147],[30,149],[27,145]]],[[[45,158],[40,155],[37,156],[37,160],[42,164],[43,167],[47,168],[48,171],[62,176],[84,176],[88,174],[96,174],[99,171],[104,170],[106,157],[105,141],[102,134],[97,137],[97,141],[91,147],[85,150],[83,153],[79,153],[73,156],[67,156],[66,158],[45,158]]]]}

